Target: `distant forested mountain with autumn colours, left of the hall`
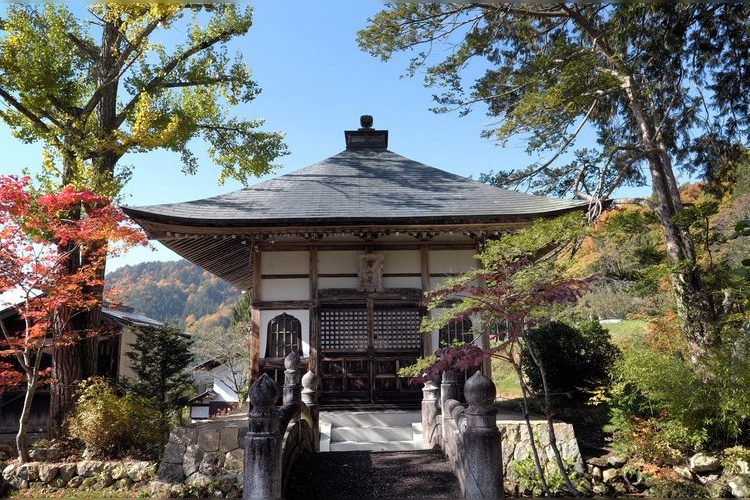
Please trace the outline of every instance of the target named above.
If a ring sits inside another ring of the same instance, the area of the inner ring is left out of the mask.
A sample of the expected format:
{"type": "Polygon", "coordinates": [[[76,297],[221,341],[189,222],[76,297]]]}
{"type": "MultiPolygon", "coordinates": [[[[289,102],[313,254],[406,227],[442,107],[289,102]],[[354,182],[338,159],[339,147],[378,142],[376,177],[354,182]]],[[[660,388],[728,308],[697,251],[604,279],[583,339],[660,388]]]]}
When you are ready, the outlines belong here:
{"type": "Polygon", "coordinates": [[[144,262],[106,275],[105,298],[189,332],[228,326],[240,291],[186,260],[144,262]]]}

